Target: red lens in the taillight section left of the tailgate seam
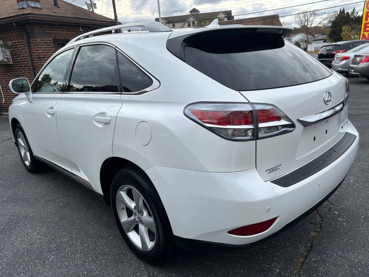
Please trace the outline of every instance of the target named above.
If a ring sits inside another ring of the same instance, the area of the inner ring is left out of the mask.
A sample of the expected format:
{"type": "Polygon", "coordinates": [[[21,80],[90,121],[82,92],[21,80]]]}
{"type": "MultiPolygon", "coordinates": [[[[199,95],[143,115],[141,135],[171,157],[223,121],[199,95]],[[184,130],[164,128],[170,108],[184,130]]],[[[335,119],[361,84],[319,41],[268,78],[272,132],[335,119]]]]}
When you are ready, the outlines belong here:
{"type": "Polygon", "coordinates": [[[189,111],[205,124],[218,126],[239,126],[252,124],[252,110],[231,111],[231,110],[194,110],[189,111]]]}

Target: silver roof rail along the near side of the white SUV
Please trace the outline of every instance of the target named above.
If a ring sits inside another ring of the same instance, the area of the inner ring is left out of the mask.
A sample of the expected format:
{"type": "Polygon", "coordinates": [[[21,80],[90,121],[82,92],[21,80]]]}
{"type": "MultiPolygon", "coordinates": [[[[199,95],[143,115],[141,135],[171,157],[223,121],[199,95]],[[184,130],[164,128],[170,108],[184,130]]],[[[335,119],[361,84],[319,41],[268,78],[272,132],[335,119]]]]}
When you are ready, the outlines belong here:
{"type": "Polygon", "coordinates": [[[159,23],[158,21],[144,21],[144,22],[120,24],[120,25],[114,25],[114,26],[110,26],[110,27],[106,27],[106,28],[101,28],[101,29],[98,29],[98,30],[94,30],[94,31],[87,32],[85,34],[79,35],[79,36],[73,38],[73,40],[69,41],[67,43],[67,45],[71,44],[72,42],[78,41],[78,40],[83,40],[85,37],[93,37],[94,34],[99,34],[99,33],[104,33],[104,32],[107,32],[107,31],[124,29],[124,28],[128,28],[128,27],[145,27],[147,29],[147,31],[149,31],[149,32],[171,32],[172,31],[172,29],[166,27],[165,25],[163,25],[162,23],[159,23]]]}

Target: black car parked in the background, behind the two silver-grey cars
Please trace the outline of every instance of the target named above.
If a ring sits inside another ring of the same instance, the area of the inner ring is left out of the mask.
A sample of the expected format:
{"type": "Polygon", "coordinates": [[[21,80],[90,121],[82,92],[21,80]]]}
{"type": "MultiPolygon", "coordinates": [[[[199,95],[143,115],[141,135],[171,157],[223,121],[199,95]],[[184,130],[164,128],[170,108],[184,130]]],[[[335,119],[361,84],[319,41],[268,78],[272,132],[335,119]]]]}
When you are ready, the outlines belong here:
{"type": "Polygon", "coordinates": [[[334,56],[338,53],[344,53],[359,45],[369,43],[368,40],[350,40],[350,41],[338,41],[328,45],[324,45],[318,52],[318,60],[331,68],[334,56]]]}

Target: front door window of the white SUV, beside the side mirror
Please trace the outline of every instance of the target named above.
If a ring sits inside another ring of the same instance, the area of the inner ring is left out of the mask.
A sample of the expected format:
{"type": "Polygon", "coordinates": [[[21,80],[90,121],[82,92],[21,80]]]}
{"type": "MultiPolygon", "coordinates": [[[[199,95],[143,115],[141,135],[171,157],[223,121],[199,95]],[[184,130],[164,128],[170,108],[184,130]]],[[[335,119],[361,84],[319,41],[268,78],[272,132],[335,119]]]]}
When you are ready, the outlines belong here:
{"type": "Polygon", "coordinates": [[[36,92],[39,93],[58,93],[64,83],[64,75],[68,66],[73,49],[65,51],[56,56],[39,75],[36,92]]]}

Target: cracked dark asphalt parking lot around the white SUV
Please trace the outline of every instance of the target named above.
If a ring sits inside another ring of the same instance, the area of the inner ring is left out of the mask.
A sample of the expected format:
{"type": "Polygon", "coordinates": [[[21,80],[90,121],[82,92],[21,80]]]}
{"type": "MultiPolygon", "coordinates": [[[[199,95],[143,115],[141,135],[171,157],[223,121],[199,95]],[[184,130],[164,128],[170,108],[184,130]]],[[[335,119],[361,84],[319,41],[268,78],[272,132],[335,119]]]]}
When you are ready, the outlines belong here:
{"type": "Polygon", "coordinates": [[[93,192],[54,170],[28,173],[0,117],[0,276],[369,276],[369,81],[348,79],[360,146],[328,201],[256,246],[176,249],[160,265],[137,259],[93,192]]]}

